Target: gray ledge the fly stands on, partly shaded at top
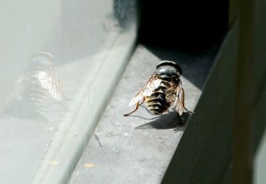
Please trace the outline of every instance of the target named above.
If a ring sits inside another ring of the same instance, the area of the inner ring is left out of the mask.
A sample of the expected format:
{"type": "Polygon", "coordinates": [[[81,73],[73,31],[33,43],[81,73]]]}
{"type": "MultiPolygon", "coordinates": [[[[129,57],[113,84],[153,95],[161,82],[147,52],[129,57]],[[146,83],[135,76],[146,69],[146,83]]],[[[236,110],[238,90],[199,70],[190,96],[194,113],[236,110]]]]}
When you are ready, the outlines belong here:
{"type": "Polygon", "coordinates": [[[149,51],[139,45],[70,183],[160,183],[185,127],[173,126],[178,121],[174,112],[155,116],[141,106],[129,117],[123,114],[133,110],[134,107],[128,107],[129,101],[153,74],[157,63],[165,59],[172,59],[182,67],[185,104],[194,110],[217,48],[192,55],[155,47],[149,51]]]}

